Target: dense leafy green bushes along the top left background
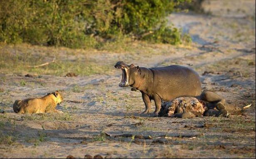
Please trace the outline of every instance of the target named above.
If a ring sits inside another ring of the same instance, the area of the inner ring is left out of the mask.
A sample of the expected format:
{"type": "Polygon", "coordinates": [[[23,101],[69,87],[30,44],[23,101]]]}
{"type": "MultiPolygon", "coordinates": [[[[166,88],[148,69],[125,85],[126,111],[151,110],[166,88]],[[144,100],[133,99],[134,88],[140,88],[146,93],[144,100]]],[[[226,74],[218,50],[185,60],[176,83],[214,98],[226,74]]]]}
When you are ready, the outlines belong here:
{"type": "Polygon", "coordinates": [[[181,33],[164,17],[189,1],[0,0],[0,41],[86,48],[126,34],[177,44],[181,33]]]}

